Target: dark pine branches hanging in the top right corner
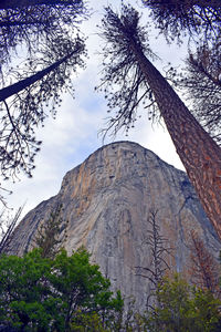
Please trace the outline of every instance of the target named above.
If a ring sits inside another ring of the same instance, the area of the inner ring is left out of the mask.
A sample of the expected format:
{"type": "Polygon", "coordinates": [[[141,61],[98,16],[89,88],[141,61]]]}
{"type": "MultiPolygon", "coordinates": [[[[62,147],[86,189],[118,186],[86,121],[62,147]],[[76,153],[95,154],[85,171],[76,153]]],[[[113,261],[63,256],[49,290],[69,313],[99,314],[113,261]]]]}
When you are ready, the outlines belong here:
{"type": "Polygon", "coordinates": [[[221,33],[220,0],[143,0],[149,8],[155,25],[168,41],[180,42],[182,37],[204,41],[221,33]]]}

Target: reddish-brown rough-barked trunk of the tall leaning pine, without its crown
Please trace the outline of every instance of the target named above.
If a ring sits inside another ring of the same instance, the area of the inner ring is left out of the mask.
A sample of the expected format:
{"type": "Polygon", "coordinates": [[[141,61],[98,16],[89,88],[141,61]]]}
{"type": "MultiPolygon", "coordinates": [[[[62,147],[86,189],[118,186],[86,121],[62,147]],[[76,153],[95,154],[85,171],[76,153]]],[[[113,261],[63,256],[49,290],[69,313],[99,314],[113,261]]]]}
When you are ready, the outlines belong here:
{"type": "Polygon", "coordinates": [[[167,80],[144,55],[136,41],[130,40],[130,49],[152,90],[167,129],[204,211],[221,239],[221,149],[167,80]]]}

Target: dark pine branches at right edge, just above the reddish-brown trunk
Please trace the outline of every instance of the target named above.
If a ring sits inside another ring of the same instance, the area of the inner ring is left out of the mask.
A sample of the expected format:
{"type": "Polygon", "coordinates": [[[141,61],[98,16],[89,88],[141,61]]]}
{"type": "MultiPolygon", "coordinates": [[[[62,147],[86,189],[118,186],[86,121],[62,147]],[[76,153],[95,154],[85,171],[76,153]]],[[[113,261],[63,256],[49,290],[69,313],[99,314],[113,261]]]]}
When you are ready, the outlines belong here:
{"type": "Polygon", "coordinates": [[[221,44],[201,45],[190,52],[186,68],[172,76],[190,101],[190,107],[202,126],[221,143],[221,44]]]}

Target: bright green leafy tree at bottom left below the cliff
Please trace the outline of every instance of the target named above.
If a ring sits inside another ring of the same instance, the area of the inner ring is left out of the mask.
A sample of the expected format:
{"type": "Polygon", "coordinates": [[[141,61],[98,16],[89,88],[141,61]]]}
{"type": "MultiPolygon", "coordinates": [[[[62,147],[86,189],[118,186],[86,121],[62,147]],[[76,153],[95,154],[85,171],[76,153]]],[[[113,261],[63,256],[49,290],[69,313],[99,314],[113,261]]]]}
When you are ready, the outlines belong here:
{"type": "Polygon", "coordinates": [[[122,312],[120,294],[113,297],[109,280],[90,263],[83,248],[71,257],[61,250],[54,259],[42,257],[41,249],[23,258],[2,256],[0,276],[0,321],[18,331],[71,331],[76,323],[84,329],[88,322],[105,325],[122,312]]]}

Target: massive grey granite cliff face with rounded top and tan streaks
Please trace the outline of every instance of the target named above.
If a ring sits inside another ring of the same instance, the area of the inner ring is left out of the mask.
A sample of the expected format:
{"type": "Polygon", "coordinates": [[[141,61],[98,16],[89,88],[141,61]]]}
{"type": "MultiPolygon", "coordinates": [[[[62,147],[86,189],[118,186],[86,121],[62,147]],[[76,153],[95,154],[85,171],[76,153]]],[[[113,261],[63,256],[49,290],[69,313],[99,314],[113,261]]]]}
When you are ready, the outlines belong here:
{"type": "Polygon", "coordinates": [[[135,143],[106,145],[70,170],[60,193],[23,218],[11,252],[31,249],[39,224],[57,204],[63,204],[62,217],[69,219],[67,251],[86,246],[92,262],[101,266],[114,289],[134,295],[138,309],[145,309],[150,288],[148,279],[136,276],[135,267],[150,267],[146,239],[151,209],[158,210],[160,234],[173,247],[168,262],[188,278],[192,229],[212,255],[218,257],[221,249],[187,175],[135,143]]]}

